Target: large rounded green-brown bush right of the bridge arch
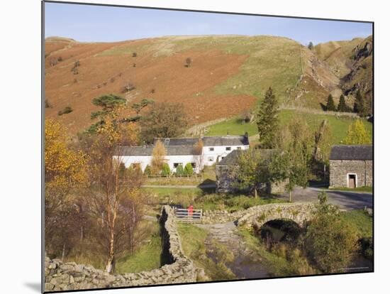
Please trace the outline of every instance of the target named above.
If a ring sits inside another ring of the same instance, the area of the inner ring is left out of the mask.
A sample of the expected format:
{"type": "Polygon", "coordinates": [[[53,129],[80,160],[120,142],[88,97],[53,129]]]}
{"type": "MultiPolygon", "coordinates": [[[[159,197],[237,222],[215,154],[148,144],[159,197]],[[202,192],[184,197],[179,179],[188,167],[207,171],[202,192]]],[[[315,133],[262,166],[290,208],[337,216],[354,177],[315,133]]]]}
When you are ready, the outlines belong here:
{"type": "Polygon", "coordinates": [[[357,250],[357,232],[340,216],[338,207],[328,204],[325,192],[318,199],[319,205],[305,235],[306,250],[324,273],[341,272],[357,250]]]}

